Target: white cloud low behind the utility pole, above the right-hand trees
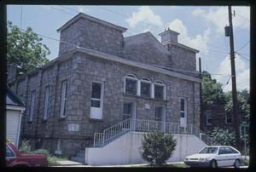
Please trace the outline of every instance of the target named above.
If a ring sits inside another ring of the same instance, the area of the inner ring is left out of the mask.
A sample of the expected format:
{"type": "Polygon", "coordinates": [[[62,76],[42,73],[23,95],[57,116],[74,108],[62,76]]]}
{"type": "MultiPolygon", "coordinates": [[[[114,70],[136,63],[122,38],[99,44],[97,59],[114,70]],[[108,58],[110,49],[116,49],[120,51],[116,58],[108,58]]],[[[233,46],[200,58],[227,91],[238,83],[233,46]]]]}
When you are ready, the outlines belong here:
{"type": "MultiPolygon", "coordinates": [[[[247,67],[247,64],[241,57],[236,54],[236,89],[249,89],[249,78],[250,78],[250,70],[247,67]]],[[[227,83],[228,79],[230,78],[231,69],[230,69],[230,55],[226,56],[226,58],[221,61],[220,65],[218,66],[218,73],[223,75],[218,75],[215,77],[219,83],[227,83]]],[[[231,79],[229,84],[223,87],[224,91],[232,90],[231,79]]]]}

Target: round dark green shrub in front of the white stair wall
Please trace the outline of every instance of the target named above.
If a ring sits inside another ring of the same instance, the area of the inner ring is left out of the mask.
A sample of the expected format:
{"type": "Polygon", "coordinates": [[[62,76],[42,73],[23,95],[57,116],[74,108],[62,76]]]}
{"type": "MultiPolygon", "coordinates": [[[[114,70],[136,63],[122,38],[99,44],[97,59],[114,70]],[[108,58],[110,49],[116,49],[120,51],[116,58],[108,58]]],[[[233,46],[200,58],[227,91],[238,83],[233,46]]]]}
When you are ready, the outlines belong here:
{"type": "Polygon", "coordinates": [[[171,158],[177,141],[171,134],[156,131],[143,135],[142,157],[152,166],[162,166],[171,158]]]}

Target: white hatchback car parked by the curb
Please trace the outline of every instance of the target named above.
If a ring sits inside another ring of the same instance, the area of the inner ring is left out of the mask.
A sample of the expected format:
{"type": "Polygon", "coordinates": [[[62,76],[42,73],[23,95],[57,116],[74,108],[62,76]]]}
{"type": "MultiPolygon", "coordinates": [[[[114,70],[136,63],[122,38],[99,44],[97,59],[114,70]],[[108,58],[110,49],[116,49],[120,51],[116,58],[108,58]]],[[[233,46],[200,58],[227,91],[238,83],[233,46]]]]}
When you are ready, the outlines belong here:
{"type": "Polygon", "coordinates": [[[241,153],[232,146],[206,146],[196,154],[186,157],[184,163],[190,167],[224,167],[241,165],[241,153]]]}

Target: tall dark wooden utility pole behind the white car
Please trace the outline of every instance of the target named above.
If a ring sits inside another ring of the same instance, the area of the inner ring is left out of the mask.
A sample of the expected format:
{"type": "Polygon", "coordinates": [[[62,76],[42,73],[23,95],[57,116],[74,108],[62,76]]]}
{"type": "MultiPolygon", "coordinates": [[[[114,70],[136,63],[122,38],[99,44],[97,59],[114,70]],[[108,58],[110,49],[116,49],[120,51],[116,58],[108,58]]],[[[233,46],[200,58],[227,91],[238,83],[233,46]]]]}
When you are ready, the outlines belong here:
{"type": "Polygon", "coordinates": [[[235,66],[235,54],[234,54],[234,36],[232,26],[232,14],[231,6],[229,5],[229,22],[230,26],[225,27],[226,36],[230,37],[230,64],[231,64],[231,80],[232,80],[232,101],[233,101],[233,119],[234,129],[236,133],[236,148],[241,151],[240,142],[240,124],[237,106],[237,93],[236,93],[236,66],[235,66]]]}

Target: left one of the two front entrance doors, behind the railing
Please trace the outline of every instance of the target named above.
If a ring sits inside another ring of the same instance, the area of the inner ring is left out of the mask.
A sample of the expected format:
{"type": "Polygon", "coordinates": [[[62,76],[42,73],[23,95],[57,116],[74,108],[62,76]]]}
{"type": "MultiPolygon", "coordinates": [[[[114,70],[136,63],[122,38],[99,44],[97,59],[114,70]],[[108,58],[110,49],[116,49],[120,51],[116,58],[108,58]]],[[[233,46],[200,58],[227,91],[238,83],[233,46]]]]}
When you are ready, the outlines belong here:
{"type": "Polygon", "coordinates": [[[131,129],[135,129],[136,102],[125,101],[123,105],[123,120],[131,118],[131,129]]]}

